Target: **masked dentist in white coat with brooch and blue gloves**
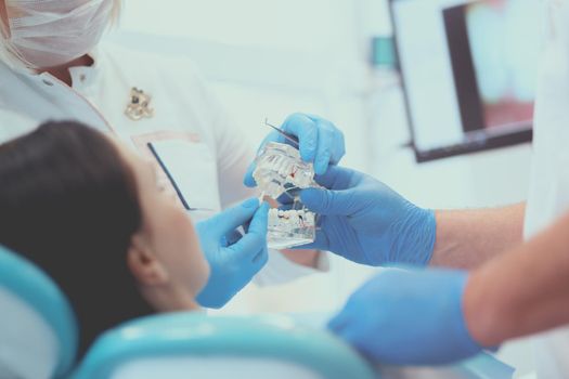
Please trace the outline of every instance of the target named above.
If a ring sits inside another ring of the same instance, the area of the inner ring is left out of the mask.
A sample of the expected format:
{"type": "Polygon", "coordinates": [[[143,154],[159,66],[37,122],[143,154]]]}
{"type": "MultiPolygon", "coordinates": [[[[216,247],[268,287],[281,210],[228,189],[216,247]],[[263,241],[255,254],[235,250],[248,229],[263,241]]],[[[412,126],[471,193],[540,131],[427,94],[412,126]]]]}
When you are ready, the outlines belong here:
{"type": "MultiPolygon", "coordinates": [[[[255,196],[243,185],[255,152],[191,61],[98,47],[119,11],[119,0],[0,0],[0,139],[49,119],[92,126],[155,161],[194,221],[255,196]],[[10,122],[4,131],[2,122],[10,122]]],[[[295,114],[282,128],[298,135],[302,157],[320,171],[344,155],[341,132],[325,120],[295,114]]],[[[238,227],[255,210],[218,214],[202,230],[227,225],[223,218],[238,227]]],[[[199,236],[204,244],[219,234],[199,236]]],[[[269,259],[264,241],[247,260],[214,250],[205,251],[211,277],[198,297],[209,308],[225,304],[254,276],[258,284],[282,283],[327,264],[316,250],[271,252],[269,259]]]]}

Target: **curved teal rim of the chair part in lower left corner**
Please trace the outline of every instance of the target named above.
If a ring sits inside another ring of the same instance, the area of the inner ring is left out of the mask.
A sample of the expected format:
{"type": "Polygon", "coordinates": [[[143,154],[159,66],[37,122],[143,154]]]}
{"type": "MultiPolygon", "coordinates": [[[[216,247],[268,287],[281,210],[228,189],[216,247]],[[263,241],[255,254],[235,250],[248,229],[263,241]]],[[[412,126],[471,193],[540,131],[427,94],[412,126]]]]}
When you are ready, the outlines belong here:
{"type": "MultiPolygon", "coordinates": [[[[53,330],[60,351],[52,376],[60,377],[69,371],[77,354],[77,322],[72,306],[55,283],[34,263],[0,246],[0,289],[28,305],[53,330]]],[[[0,312],[0,323],[4,323],[7,316],[3,312],[0,312]]],[[[2,343],[5,341],[2,342],[0,336],[2,343]]]]}

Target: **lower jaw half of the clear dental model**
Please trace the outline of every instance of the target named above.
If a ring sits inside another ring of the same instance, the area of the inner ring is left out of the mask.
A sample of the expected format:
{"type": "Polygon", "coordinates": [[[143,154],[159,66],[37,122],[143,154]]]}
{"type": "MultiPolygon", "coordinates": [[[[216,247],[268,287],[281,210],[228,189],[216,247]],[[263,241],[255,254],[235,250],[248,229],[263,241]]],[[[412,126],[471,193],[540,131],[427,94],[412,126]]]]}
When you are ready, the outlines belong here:
{"type": "Polygon", "coordinates": [[[267,240],[271,249],[310,244],[316,233],[315,214],[306,209],[270,209],[267,240]]]}

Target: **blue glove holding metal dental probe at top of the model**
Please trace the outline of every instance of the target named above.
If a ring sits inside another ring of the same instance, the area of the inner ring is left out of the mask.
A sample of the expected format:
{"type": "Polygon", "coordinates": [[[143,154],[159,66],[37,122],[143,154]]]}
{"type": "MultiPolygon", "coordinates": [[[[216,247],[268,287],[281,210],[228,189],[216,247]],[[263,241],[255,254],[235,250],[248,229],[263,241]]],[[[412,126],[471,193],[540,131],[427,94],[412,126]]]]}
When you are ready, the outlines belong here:
{"type": "MultiPolygon", "coordinates": [[[[300,157],[306,162],[314,164],[316,174],[326,172],[329,165],[337,165],[346,154],[344,133],[331,121],[321,117],[293,114],[283,122],[281,130],[298,138],[300,157]]],[[[262,141],[259,151],[269,142],[290,144],[288,140],[273,130],[262,141]]],[[[253,179],[253,171],[255,171],[255,162],[249,165],[243,180],[248,187],[257,185],[253,179]]]]}

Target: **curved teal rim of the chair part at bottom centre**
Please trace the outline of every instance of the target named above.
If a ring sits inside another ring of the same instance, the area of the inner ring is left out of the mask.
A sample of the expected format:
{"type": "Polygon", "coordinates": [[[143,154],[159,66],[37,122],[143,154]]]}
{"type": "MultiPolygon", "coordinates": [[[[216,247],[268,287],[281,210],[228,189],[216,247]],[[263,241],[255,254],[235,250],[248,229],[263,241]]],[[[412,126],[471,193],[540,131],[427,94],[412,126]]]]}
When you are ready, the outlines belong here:
{"type": "MultiPolygon", "coordinates": [[[[332,379],[371,379],[375,375],[370,364],[339,339],[323,330],[299,327],[286,316],[183,312],[138,318],[105,332],[74,379],[108,379],[134,361],[194,357],[195,363],[218,356],[237,362],[283,362],[332,379]]],[[[195,377],[193,369],[195,364],[174,377],[195,377]]],[[[233,375],[238,377],[238,373],[233,375]]],[[[161,377],[168,379],[165,373],[161,377]]]]}

